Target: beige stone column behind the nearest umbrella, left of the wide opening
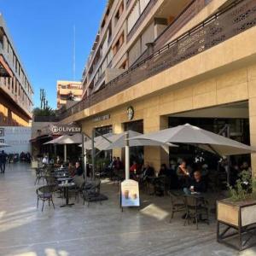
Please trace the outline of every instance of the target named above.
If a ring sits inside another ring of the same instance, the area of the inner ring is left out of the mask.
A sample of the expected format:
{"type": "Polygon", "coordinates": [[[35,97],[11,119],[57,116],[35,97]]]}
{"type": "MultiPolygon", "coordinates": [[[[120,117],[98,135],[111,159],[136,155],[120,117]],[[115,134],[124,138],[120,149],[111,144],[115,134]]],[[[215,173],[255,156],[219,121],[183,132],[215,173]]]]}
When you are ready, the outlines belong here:
{"type": "MultiPolygon", "coordinates": [[[[168,128],[168,117],[159,115],[148,116],[144,118],[143,126],[145,134],[166,129],[168,128]]],[[[166,149],[167,151],[161,147],[144,147],[144,162],[148,162],[159,172],[161,164],[169,166],[169,149],[166,149]]]]}

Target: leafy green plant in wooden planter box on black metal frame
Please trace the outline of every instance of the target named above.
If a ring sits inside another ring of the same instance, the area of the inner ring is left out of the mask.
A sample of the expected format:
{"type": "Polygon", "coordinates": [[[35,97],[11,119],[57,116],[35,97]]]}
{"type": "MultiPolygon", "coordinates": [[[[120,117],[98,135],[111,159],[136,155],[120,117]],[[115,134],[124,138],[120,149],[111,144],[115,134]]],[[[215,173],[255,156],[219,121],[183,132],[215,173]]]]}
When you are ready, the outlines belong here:
{"type": "Polygon", "coordinates": [[[256,230],[256,178],[242,171],[229,190],[230,197],[217,202],[217,240],[242,250],[253,246],[249,241],[256,230]],[[220,224],[224,230],[220,230],[220,224]],[[232,245],[230,237],[238,238],[238,244],[232,245]]]}

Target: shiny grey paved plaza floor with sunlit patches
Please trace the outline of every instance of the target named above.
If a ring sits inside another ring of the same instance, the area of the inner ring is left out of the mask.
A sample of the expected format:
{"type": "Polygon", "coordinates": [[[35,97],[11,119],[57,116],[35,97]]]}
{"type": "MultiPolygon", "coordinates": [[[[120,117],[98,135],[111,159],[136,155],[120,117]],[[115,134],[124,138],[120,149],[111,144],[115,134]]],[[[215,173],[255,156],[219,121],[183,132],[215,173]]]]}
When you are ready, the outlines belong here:
{"type": "MultiPolygon", "coordinates": [[[[116,255],[256,255],[256,248],[239,254],[216,242],[214,216],[210,226],[183,226],[181,214],[169,223],[168,197],[143,195],[143,207],[119,209],[117,185],[102,183],[109,200],[101,204],[55,210],[36,207],[35,174],[29,166],[12,164],[0,176],[1,256],[116,256],[116,255]]],[[[73,201],[73,199],[71,199],[73,201]]]]}

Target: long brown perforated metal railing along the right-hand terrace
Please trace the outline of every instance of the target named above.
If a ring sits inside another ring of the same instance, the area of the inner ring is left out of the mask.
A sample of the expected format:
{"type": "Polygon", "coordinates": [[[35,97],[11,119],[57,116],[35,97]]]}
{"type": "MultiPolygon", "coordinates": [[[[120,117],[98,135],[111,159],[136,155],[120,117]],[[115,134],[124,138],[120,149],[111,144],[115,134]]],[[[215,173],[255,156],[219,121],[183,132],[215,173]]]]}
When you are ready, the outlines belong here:
{"type": "Polygon", "coordinates": [[[218,13],[210,16],[170,44],[166,44],[165,47],[159,49],[153,55],[148,56],[147,59],[137,63],[116,79],[105,84],[102,90],[97,91],[72,108],[68,108],[61,113],[60,118],[65,119],[73,113],[78,113],[84,108],[102,102],[108,97],[188,60],[190,57],[198,55],[217,44],[221,44],[255,25],[255,0],[233,1],[218,13]]]}

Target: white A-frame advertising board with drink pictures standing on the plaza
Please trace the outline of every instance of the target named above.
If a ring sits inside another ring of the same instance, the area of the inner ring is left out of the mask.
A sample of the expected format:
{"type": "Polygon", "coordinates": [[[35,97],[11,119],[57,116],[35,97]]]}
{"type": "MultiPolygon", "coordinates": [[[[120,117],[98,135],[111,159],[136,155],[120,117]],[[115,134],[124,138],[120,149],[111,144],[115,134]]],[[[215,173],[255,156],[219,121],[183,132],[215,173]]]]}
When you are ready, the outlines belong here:
{"type": "Polygon", "coordinates": [[[135,180],[127,179],[121,183],[121,207],[139,207],[140,196],[138,183],[135,180]]]}

